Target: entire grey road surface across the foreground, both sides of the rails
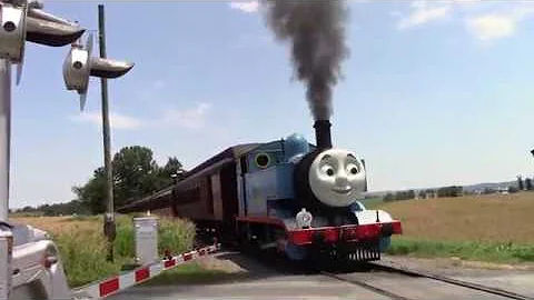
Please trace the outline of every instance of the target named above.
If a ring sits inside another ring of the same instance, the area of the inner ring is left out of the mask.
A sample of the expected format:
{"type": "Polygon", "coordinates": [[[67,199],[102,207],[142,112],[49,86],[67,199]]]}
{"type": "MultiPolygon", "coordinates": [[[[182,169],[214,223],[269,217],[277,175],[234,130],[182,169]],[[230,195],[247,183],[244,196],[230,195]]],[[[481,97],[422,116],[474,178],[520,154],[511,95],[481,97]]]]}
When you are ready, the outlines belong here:
{"type": "MultiPolygon", "coordinates": [[[[323,274],[298,274],[284,269],[280,271],[279,268],[271,268],[237,253],[219,253],[215,261],[233,263],[239,271],[236,271],[235,277],[226,277],[221,282],[131,288],[108,299],[392,299],[390,296],[386,297],[368,288],[323,274]]],[[[506,299],[426,278],[383,271],[342,276],[406,299],[506,299]]],[[[454,277],[486,286],[495,284],[523,294],[534,292],[534,272],[456,271],[454,277]]]]}

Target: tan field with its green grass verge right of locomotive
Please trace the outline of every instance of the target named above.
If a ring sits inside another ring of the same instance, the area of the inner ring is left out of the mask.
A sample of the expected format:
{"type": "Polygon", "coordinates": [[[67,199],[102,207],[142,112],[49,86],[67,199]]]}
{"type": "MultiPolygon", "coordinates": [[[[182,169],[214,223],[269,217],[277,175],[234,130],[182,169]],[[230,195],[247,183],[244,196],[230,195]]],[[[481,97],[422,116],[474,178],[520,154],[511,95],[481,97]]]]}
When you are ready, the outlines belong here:
{"type": "Polygon", "coordinates": [[[469,196],[378,203],[403,222],[389,253],[534,261],[534,193],[469,196]]]}

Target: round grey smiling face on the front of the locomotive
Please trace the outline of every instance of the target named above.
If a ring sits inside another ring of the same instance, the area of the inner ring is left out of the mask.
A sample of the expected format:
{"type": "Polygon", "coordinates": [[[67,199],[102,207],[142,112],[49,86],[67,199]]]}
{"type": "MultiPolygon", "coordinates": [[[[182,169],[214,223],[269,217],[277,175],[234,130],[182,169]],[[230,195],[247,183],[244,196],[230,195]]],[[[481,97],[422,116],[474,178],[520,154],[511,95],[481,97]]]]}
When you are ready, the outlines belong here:
{"type": "Polygon", "coordinates": [[[319,153],[312,162],[308,178],[315,197],[330,207],[349,206],[365,187],[362,161],[342,149],[319,153]]]}

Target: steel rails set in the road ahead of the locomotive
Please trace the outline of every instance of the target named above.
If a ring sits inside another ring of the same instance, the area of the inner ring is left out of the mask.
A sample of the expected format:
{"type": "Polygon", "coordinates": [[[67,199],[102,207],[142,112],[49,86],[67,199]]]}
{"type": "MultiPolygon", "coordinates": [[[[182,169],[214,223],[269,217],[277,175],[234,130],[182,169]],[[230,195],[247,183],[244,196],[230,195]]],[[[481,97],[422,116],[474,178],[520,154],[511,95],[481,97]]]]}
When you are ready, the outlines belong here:
{"type": "MultiPolygon", "coordinates": [[[[435,281],[438,281],[438,282],[445,282],[445,283],[448,283],[448,284],[453,284],[453,286],[457,286],[457,287],[462,287],[462,288],[467,288],[467,289],[484,292],[484,293],[495,294],[495,296],[500,296],[500,297],[507,298],[507,299],[534,300],[533,297],[520,294],[520,293],[516,293],[516,292],[512,292],[512,291],[507,291],[507,290],[503,290],[503,289],[498,289],[498,288],[494,288],[494,287],[486,287],[486,286],[482,286],[482,284],[477,284],[477,283],[473,283],[473,282],[468,282],[468,281],[464,281],[464,280],[453,279],[453,278],[449,278],[449,277],[445,277],[445,276],[441,276],[441,274],[436,274],[436,273],[431,273],[431,272],[426,272],[426,271],[408,269],[408,268],[405,268],[405,267],[388,266],[384,262],[369,262],[369,263],[367,263],[367,267],[370,267],[370,269],[373,269],[373,270],[378,270],[378,271],[383,271],[383,272],[386,272],[386,273],[398,273],[398,274],[416,277],[416,278],[427,278],[427,279],[435,280],[435,281]]],[[[390,299],[413,300],[412,298],[402,296],[398,292],[394,292],[392,290],[386,290],[384,288],[379,288],[378,286],[373,284],[372,282],[369,283],[366,280],[349,277],[348,273],[339,274],[339,273],[333,273],[333,272],[328,272],[328,271],[322,271],[320,273],[324,274],[324,276],[330,277],[330,278],[335,278],[337,280],[345,281],[347,283],[359,286],[362,288],[365,288],[365,289],[368,289],[370,291],[377,292],[379,294],[386,296],[387,298],[390,298],[390,299]]]]}

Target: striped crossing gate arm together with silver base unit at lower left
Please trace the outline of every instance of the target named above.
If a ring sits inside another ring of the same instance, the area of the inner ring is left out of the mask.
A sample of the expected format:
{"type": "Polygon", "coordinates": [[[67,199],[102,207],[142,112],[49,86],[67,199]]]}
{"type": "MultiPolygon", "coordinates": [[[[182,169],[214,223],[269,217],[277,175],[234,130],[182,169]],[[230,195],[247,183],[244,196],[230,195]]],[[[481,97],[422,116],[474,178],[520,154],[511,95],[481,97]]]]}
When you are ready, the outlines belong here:
{"type": "Polygon", "coordinates": [[[214,253],[219,244],[155,260],[132,271],[70,289],[58,249],[48,234],[24,224],[0,224],[0,299],[102,299],[188,261],[214,253]]]}

